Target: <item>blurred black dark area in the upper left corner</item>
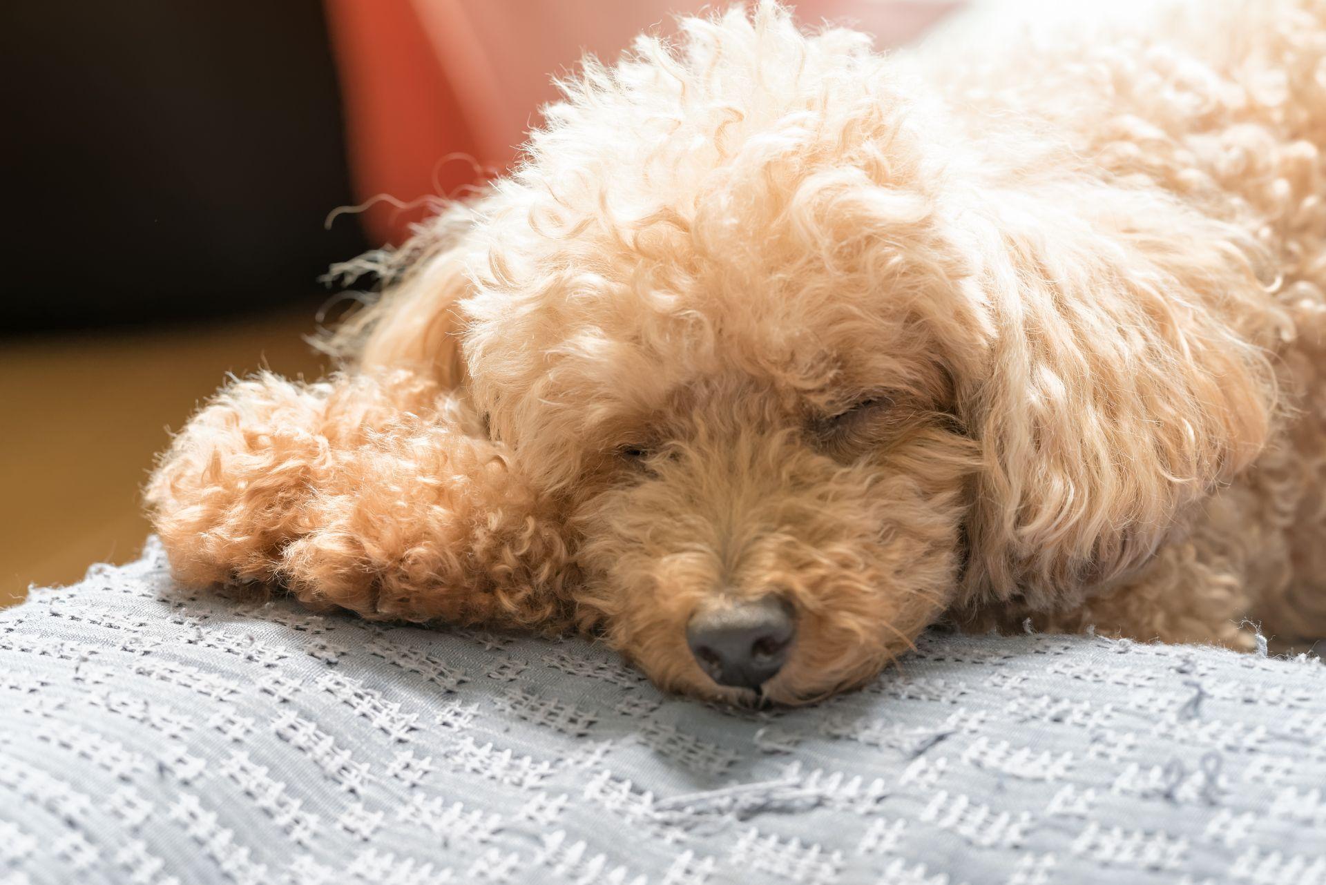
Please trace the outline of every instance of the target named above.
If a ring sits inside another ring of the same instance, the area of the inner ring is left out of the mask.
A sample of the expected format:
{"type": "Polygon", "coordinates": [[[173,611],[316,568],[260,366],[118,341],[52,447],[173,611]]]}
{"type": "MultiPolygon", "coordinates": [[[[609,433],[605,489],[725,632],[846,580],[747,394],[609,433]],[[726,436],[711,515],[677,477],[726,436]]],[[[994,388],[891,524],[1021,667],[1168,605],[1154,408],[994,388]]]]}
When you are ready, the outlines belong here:
{"type": "Polygon", "coordinates": [[[0,333],[328,299],[365,249],[317,0],[9,4],[0,333]]]}

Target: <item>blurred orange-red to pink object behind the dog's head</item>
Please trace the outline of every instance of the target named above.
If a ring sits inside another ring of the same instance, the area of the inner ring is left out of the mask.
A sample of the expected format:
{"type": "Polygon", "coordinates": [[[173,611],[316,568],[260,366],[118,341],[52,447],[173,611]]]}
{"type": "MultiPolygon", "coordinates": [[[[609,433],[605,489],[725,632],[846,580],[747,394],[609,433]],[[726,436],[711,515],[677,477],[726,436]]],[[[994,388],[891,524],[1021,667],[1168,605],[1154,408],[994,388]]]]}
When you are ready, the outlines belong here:
{"type": "MultiPolygon", "coordinates": [[[[961,0],[802,0],[808,24],[850,24],[906,42],[961,0]]],[[[400,242],[431,215],[416,201],[501,174],[554,74],[585,52],[615,58],[642,30],[713,9],[699,0],[326,0],[355,193],[371,242],[400,242]],[[382,196],[390,197],[390,203],[382,196]],[[400,208],[406,205],[408,208],[400,208]]]]}

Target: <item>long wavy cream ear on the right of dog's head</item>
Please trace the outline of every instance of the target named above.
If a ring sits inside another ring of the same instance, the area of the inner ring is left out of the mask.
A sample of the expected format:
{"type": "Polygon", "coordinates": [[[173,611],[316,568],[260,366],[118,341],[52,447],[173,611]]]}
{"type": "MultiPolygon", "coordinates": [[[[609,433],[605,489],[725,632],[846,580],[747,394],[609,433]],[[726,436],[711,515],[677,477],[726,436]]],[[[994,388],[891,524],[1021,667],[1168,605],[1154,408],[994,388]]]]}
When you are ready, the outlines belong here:
{"type": "Polygon", "coordinates": [[[960,392],[983,444],[965,596],[1073,604],[1126,578],[1257,456],[1280,331],[1235,227],[1119,185],[992,195],[988,367],[960,392]]]}

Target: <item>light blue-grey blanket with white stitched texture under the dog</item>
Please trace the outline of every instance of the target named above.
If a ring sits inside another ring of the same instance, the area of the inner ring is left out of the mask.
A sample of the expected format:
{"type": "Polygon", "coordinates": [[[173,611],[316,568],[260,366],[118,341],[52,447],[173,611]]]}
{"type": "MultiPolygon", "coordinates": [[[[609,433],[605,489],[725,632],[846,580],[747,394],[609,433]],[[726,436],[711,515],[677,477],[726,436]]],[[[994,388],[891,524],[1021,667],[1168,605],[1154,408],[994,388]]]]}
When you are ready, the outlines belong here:
{"type": "Polygon", "coordinates": [[[0,613],[3,882],[1326,882],[1326,666],[931,635],[736,711],[611,653],[174,584],[0,613]]]}

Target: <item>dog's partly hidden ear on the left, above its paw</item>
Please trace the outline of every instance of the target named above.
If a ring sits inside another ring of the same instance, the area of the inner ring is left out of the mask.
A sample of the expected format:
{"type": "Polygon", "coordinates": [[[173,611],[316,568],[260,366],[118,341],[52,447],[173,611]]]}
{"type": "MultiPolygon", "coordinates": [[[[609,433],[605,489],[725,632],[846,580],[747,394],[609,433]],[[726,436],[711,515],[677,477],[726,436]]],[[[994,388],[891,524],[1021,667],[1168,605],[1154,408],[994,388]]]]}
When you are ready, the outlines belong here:
{"type": "Polygon", "coordinates": [[[382,294],[341,325],[330,350],[369,374],[407,370],[443,388],[461,387],[460,302],[471,291],[464,253],[472,227],[473,209],[455,204],[385,260],[362,260],[383,278],[382,294]]]}

